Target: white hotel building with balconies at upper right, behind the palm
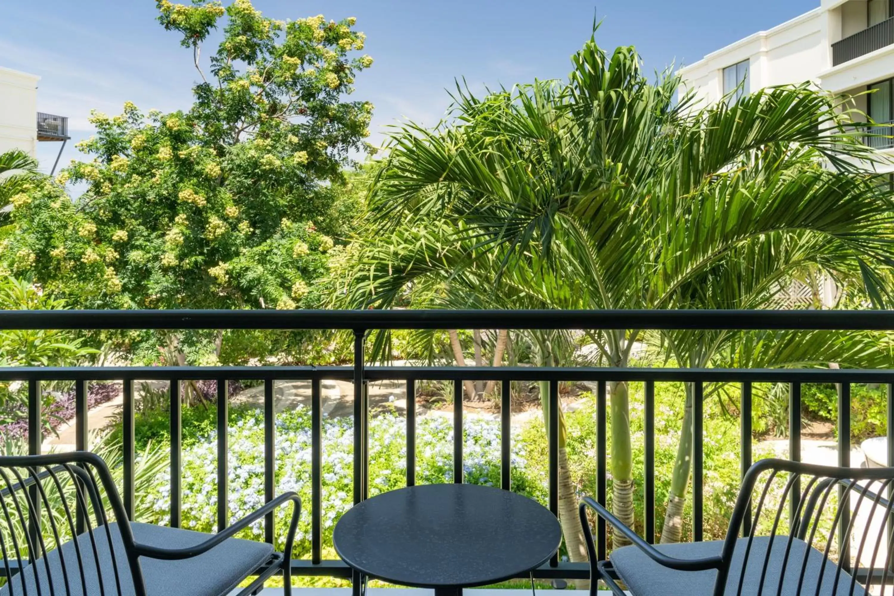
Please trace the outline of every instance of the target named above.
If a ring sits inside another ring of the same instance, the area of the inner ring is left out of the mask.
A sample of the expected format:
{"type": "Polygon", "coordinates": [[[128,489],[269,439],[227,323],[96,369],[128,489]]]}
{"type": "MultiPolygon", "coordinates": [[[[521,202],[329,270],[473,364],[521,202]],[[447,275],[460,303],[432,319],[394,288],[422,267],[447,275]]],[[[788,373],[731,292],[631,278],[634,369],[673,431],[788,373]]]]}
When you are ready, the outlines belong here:
{"type": "MultiPolygon", "coordinates": [[[[745,93],[806,80],[840,94],[875,89],[856,107],[875,122],[894,122],[894,0],[821,0],[809,13],[739,39],[679,74],[707,101],[739,83],[745,93]]],[[[867,142],[894,153],[894,139],[867,142]]],[[[894,172],[894,164],[881,169],[894,172]]]]}

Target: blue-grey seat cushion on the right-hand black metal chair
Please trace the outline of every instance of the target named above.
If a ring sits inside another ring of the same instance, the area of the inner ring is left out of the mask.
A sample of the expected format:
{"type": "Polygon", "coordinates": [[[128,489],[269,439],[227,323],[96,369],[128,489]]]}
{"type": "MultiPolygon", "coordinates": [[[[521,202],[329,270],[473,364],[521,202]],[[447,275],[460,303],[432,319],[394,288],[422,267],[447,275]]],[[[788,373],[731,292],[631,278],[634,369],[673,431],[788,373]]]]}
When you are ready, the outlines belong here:
{"type": "MultiPolygon", "coordinates": [[[[742,563],[746,560],[747,538],[736,542],[733,558],[730,562],[730,575],[727,577],[725,594],[738,594],[739,579],[742,575],[742,563]]],[[[805,541],[792,539],[788,557],[788,536],[758,536],[752,541],[748,550],[745,579],[742,582],[742,596],[757,596],[760,591],[761,575],[764,560],[767,561],[766,576],[763,580],[763,595],[776,596],[782,577],[782,596],[796,596],[798,593],[813,596],[816,584],[822,583],[820,594],[823,596],[867,596],[863,586],[854,583],[854,592],[850,592],[851,576],[843,569],[835,578],[836,563],[824,560],[822,552],[807,545],[805,541]],[[767,558],[767,550],[770,557],[767,558]],[[809,551],[805,565],[805,553],[809,551]],[[785,570],[783,571],[783,567],[785,570]],[[804,581],[798,592],[801,569],[806,567],[804,581]],[[834,589],[833,589],[834,586],[834,589]]],[[[721,554],[723,541],[687,542],[681,544],[662,544],[655,548],[673,558],[705,558],[721,554]]],[[[611,552],[611,564],[618,575],[627,584],[632,596],[710,596],[714,592],[717,572],[678,571],[656,563],[636,546],[625,546],[611,552]]]]}

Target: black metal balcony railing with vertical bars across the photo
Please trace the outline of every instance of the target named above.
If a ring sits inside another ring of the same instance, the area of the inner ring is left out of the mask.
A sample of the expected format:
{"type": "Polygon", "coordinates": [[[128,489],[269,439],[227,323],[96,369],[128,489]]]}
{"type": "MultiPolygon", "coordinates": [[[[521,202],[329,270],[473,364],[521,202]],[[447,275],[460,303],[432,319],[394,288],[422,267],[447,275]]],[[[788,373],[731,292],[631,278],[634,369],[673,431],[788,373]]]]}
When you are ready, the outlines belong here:
{"type": "MultiPolygon", "coordinates": [[[[350,578],[350,568],[338,560],[322,558],[322,417],[321,381],[345,380],[354,383],[353,449],[359,457],[353,460],[353,500],[367,498],[369,463],[368,398],[366,383],[371,381],[404,381],[407,403],[415,403],[417,381],[453,382],[453,478],[463,482],[463,381],[502,382],[501,415],[501,486],[510,489],[510,381],[547,381],[549,436],[549,508],[559,511],[558,429],[559,382],[596,382],[597,476],[595,498],[606,502],[606,407],[608,382],[626,381],[645,384],[645,457],[644,510],[645,539],[655,537],[654,483],[654,388],[656,382],[693,383],[693,449],[692,449],[692,527],[696,541],[703,539],[704,527],[704,383],[741,383],[740,438],[752,436],[752,386],[756,382],[789,384],[789,454],[798,459],[801,453],[801,386],[803,383],[838,383],[838,464],[850,465],[850,395],[852,383],[884,383],[888,388],[887,437],[888,464],[894,464],[894,370],[855,369],[687,369],[687,368],[595,368],[595,367],[432,367],[432,366],[367,366],[364,342],[367,332],[380,329],[701,329],[701,330],[894,330],[894,311],[6,311],[0,312],[0,330],[34,329],[327,329],[354,333],[352,366],[229,366],[229,367],[6,367],[0,368],[0,382],[23,381],[29,391],[29,450],[41,449],[40,383],[44,381],[76,382],[76,448],[88,449],[87,382],[122,380],[122,430],[124,450],[123,500],[128,514],[134,508],[134,382],[164,380],[170,382],[171,407],[171,503],[170,523],[181,524],[181,399],[180,381],[215,379],[218,388],[217,424],[217,503],[228,502],[227,484],[228,416],[227,382],[231,379],[257,379],[264,382],[265,419],[265,499],[274,498],[276,424],[274,381],[309,380],[311,382],[311,558],[293,559],[296,575],[330,575],[350,578]],[[793,415],[794,413],[794,415],[793,415]],[[457,438],[460,438],[458,441],[457,438]]],[[[740,441],[741,472],[752,463],[752,445],[740,441]]],[[[416,482],[416,414],[407,408],[407,484],[416,482]]],[[[847,499],[843,495],[842,499],[847,499]]],[[[848,511],[846,505],[842,506],[848,511]]],[[[218,527],[227,524],[225,505],[217,508],[218,527]]],[[[849,516],[839,519],[840,528],[849,523],[849,516]]],[[[266,517],[266,540],[274,539],[274,521],[266,517]]],[[[743,528],[747,532],[747,528],[743,528]]],[[[597,554],[606,554],[606,528],[597,525],[597,554]]],[[[848,545],[840,557],[849,561],[848,545]]],[[[846,563],[844,567],[848,567],[846,563]]],[[[861,570],[858,570],[859,576],[861,570]]],[[[862,573],[865,573],[862,570],[862,573]]],[[[881,570],[878,573],[883,573],[881,570]]],[[[586,578],[588,567],[581,563],[560,562],[557,557],[536,570],[541,578],[586,578]]],[[[355,593],[359,585],[355,582],[355,593]]]]}

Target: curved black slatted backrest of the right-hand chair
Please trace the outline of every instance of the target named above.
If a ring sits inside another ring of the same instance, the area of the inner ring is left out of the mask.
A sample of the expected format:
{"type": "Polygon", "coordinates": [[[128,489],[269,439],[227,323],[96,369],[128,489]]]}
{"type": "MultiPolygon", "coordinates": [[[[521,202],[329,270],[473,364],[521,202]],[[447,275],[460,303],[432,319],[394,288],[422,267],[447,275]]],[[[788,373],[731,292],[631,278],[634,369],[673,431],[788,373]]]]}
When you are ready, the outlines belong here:
{"type": "Polygon", "coordinates": [[[863,596],[891,584],[894,468],[763,459],[746,474],[715,596],[863,596]]]}

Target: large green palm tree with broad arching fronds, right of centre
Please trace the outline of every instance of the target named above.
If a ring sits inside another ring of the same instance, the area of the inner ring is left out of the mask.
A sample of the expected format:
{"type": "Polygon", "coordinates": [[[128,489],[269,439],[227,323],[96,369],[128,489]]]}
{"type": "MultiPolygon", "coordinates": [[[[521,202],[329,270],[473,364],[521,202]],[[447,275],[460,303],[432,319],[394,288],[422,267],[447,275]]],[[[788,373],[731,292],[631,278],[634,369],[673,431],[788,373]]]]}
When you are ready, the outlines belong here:
{"type": "MultiPolygon", "coordinates": [[[[650,82],[634,48],[608,56],[593,38],[572,61],[567,82],[460,89],[451,122],[392,132],[349,294],[389,306],[426,276],[447,293],[490,255],[497,273],[463,304],[510,292],[552,308],[762,307],[805,267],[890,302],[890,200],[860,165],[873,154],[846,105],[806,84],[675,101],[676,76],[650,82]]],[[[643,337],[591,334],[618,367],[643,337]]],[[[688,337],[696,354],[704,338],[688,337]]],[[[610,399],[612,508],[632,524],[627,385],[611,383],[610,399]]]]}

